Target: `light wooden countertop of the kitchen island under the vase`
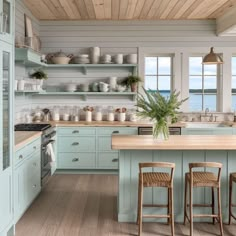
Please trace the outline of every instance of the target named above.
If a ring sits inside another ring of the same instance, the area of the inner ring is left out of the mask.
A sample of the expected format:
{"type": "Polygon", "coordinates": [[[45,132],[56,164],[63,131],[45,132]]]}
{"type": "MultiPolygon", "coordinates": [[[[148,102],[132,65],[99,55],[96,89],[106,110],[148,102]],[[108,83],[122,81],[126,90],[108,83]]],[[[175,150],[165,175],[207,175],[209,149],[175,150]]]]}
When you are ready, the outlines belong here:
{"type": "Polygon", "coordinates": [[[236,150],[236,135],[171,135],[154,140],[152,135],[113,135],[117,150],[236,150]]]}

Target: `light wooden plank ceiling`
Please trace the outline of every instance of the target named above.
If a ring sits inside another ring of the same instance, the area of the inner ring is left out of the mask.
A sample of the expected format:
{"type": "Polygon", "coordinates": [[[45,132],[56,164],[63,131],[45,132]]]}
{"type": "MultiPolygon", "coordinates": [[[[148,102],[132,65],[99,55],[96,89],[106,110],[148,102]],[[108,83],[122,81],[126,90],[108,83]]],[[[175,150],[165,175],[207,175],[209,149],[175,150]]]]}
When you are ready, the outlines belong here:
{"type": "Polygon", "coordinates": [[[236,0],[23,0],[39,20],[216,19],[236,0]]]}

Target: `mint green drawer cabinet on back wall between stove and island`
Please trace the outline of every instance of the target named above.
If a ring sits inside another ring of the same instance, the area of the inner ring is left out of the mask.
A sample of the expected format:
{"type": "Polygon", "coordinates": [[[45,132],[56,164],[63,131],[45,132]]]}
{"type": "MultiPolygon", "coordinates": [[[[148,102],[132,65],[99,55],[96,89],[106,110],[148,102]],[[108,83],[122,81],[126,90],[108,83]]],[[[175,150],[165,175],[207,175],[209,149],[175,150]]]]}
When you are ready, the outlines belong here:
{"type": "Polygon", "coordinates": [[[137,127],[59,127],[58,169],[118,169],[111,136],[138,134],[137,127]]]}

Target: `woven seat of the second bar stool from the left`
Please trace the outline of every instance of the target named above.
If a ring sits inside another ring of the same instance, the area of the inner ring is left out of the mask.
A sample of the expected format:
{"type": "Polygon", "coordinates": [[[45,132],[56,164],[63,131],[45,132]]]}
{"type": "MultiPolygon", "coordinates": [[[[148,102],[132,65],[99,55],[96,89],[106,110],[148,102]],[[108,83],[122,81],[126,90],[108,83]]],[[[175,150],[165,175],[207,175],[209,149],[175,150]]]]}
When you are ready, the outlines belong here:
{"type": "MultiPolygon", "coordinates": [[[[190,173],[186,173],[190,181],[190,173]]],[[[212,172],[193,172],[193,187],[218,187],[217,176],[212,172]]]]}

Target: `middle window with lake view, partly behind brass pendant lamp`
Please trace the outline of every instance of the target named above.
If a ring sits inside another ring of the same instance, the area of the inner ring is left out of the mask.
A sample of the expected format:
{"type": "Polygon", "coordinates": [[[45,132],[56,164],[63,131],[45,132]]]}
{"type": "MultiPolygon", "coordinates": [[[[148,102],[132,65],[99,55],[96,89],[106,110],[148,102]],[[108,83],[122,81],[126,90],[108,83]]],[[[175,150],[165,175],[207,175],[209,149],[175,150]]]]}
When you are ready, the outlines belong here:
{"type": "Polygon", "coordinates": [[[202,57],[189,58],[189,109],[217,109],[217,66],[203,65],[202,57]]]}

